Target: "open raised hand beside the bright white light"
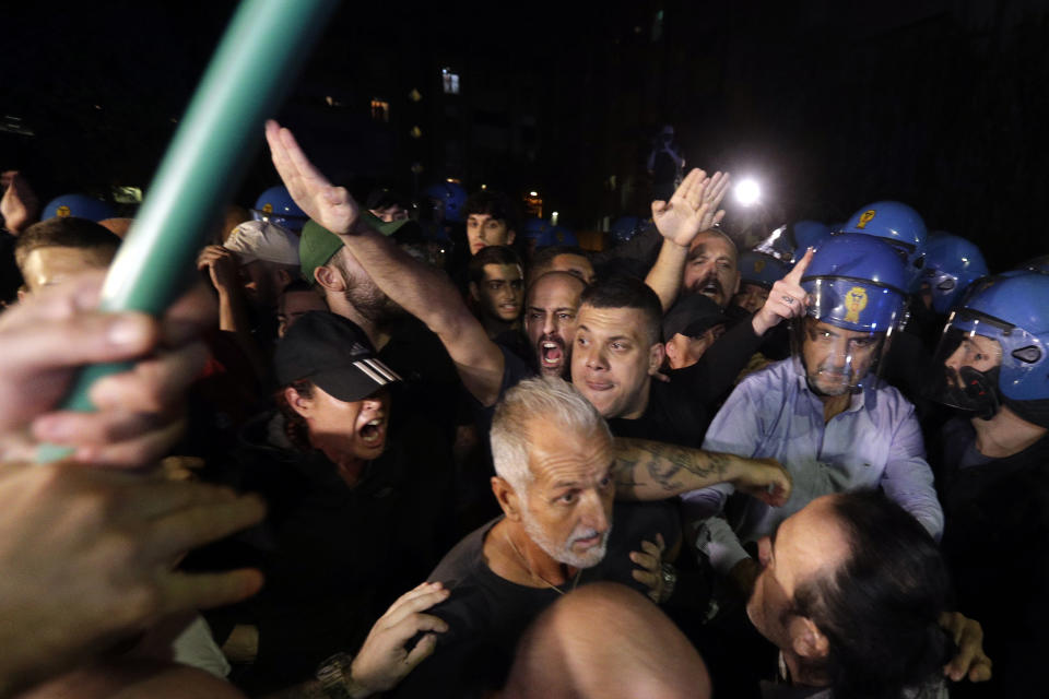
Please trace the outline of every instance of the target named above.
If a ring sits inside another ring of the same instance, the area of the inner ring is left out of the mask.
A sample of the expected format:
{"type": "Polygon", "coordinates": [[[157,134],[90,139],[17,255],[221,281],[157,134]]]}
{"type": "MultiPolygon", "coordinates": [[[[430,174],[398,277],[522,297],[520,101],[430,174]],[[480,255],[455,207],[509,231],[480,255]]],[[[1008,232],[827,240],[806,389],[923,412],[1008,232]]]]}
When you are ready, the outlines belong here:
{"type": "Polygon", "coordinates": [[[714,177],[694,169],[681,182],[669,202],[652,202],[652,221],[664,238],[688,247],[703,230],[720,223],[724,211],[718,205],[729,186],[728,173],[715,173],[714,177]]]}

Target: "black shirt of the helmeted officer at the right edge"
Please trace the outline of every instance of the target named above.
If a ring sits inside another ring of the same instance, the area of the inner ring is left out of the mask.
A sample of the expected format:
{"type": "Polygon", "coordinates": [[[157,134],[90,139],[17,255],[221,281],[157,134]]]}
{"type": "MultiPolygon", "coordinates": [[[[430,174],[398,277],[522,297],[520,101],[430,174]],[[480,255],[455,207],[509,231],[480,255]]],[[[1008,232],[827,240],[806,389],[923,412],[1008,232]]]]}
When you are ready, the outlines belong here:
{"type": "Polygon", "coordinates": [[[942,439],[941,545],[957,608],[983,626],[994,661],[990,682],[959,683],[952,696],[1030,696],[1049,656],[1049,435],[1005,459],[976,450],[967,419],[947,423],[942,439]]]}

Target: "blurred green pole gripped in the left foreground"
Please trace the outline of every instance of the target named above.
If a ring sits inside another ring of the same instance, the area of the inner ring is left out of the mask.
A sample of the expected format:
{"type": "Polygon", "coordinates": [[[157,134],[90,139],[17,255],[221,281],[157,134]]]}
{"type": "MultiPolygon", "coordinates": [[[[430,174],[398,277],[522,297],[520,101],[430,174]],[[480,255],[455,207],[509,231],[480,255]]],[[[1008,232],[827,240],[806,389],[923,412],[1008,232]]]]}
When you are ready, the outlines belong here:
{"type": "MultiPolygon", "coordinates": [[[[236,183],[244,155],[275,112],[286,87],[338,0],[244,0],[229,22],[175,139],[120,246],[99,309],[160,317],[185,291],[192,261],[236,183]]],[[[80,372],[66,410],[93,411],[95,380],[127,369],[101,364],[80,372]]],[[[37,461],[68,457],[43,445],[37,461]]]]}

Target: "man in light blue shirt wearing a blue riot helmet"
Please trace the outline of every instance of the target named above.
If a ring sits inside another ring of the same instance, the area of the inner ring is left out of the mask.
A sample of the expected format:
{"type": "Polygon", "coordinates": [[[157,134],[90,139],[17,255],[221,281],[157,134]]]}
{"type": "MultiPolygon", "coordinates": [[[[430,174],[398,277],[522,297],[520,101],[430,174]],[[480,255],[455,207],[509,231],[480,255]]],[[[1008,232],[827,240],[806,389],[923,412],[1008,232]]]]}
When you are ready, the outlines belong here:
{"type": "MultiPolygon", "coordinates": [[[[914,406],[879,380],[889,337],[903,324],[903,260],[884,241],[844,234],[821,246],[801,279],[805,312],[792,357],[744,379],[715,417],[703,448],[778,459],[793,478],[780,508],[731,486],[684,496],[691,521],[710,518],[697,545],[749,593],[759,566],[744,549],[813,499],[880,487],[936,538],[943,511],[914,406]]],[[[786,303],[786,298],[783,299],[786,303]]]]}

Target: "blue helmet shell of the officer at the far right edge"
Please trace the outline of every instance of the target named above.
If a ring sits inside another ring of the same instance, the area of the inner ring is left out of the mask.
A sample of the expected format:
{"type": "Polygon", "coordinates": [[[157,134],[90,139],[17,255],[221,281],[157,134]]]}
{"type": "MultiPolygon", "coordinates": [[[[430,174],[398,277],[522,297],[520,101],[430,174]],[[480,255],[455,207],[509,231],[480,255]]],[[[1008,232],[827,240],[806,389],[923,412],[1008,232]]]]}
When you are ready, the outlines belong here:
{"type": "Polygon", "coordinates": [[[1014,273],[977,282],[951,315],[945,335],[951,329],[998,341],[998,388],[1005,399],[1049,399],[1049,275],[1014,273]]]}

